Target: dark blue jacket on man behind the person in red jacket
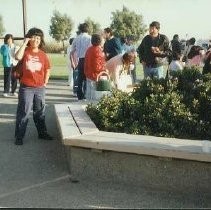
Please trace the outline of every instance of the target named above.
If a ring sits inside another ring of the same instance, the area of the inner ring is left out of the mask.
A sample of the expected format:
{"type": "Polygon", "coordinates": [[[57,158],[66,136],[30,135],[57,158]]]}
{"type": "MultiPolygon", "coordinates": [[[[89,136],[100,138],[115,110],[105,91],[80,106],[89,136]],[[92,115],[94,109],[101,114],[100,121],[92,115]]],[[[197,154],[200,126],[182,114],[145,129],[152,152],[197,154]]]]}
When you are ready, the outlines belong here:
{"type": "Polygon", "coordinates": [[[104,44],[104,52],[106,54],[106,60],[113,58],[114,56],[122,53],[121,42],[118,38],[106,40],[104,44]]]}

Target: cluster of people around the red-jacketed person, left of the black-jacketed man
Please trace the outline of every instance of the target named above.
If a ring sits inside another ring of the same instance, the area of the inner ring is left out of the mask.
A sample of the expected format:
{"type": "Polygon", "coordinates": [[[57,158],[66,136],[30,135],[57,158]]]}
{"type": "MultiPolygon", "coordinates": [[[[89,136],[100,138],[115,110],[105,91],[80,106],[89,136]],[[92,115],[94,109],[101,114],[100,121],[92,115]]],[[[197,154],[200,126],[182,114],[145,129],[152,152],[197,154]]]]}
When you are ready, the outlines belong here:
{"type": "MultiPolygon", "coordinates": [[[[121,89],[121,75],[128,75],[135,82],[136,50],[129,37],[124,43],[113,35],[111,28],[103,33],[89,35],[88,25],[80,24],[78,35],[68,48],[68,66],[72,77],[77,70],[77,82],[73,79],[73,90],[77,83],[78,100],[92,100],[99,75],[104,72],[111,78],[113,86],[121,89]],[[74,67],[73,67],[74,66],[74,67]]],[[[72,39],[71,39],[72,40],[72,39]]]]}

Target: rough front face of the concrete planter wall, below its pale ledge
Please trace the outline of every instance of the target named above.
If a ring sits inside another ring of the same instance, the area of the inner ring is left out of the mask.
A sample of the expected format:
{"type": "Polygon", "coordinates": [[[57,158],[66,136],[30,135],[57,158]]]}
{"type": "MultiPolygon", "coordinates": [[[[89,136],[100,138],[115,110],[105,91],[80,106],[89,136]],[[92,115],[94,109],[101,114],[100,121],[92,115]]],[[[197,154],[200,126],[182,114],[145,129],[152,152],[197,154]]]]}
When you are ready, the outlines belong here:
{"type": "Polygon", "coordinates": [[[68,147],[71,176],[160,190],[211,192],[211,164],[68,147]]]}

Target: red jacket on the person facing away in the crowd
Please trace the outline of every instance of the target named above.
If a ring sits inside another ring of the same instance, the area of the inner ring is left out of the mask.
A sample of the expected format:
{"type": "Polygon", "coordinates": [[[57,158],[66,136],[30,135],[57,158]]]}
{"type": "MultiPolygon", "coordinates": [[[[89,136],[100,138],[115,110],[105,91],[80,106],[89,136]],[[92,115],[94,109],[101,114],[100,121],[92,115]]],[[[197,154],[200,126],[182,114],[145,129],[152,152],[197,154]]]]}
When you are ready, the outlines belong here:
{"type": "Polygon", "coordinates": [[[105,55],[100,46],[91,46],[86,51],[84,74],[88,79],[97,80],[97,75],[105,70],[105,55]]]}

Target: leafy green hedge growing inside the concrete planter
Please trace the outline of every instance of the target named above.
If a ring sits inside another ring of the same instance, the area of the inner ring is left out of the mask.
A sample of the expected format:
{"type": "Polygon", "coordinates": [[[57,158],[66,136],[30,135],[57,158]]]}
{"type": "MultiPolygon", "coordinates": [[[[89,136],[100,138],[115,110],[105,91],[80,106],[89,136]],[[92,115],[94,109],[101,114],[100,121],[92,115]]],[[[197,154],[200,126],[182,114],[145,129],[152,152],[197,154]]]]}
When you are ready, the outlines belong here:
{"type": "Polygon", "coordinates": [[[104,131],[211,139],[211,74],[185,68],[169,80],[142,80],[131,94],[113,90],[86,111],[104,131]]]}

